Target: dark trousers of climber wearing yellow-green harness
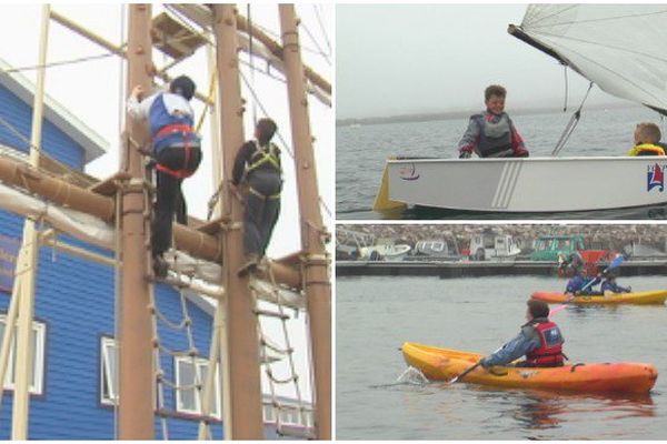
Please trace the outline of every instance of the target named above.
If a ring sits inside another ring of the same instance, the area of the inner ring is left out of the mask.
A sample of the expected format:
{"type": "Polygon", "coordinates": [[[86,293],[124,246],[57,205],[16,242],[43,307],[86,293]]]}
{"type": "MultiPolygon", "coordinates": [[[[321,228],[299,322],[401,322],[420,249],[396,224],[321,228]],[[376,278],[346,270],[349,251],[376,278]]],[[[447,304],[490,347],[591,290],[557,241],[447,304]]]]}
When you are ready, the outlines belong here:
{"type": "Polygon", "coordinates": [[[282,180],[277,171],[260,169],[248,175],[248,184],[255,192],[248,192],[246,199],[243,249],[246,255],[257,254],[261,258],[280,214],[280,196],[276,194],[282,189],[282,180]]]}

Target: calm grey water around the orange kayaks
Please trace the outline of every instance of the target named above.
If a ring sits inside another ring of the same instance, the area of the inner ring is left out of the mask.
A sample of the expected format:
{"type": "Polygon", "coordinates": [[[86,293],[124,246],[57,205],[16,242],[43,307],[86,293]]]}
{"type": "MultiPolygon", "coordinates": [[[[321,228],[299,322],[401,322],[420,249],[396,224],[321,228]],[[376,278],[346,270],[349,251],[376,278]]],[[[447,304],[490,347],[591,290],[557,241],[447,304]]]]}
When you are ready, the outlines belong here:
{"type": "MultiPolygon", "coordinates": [[[[619,278],[635,290],[667,278],[619,278]]],[[[571,362],[650,362],[647,396],[558,395],[465,383],[397,384],[406,341],[490,353],[557,278],[339,278],[336,431],[340,440],[665,440],[667,306],[567,307],[555,315],[571,362]]]]}

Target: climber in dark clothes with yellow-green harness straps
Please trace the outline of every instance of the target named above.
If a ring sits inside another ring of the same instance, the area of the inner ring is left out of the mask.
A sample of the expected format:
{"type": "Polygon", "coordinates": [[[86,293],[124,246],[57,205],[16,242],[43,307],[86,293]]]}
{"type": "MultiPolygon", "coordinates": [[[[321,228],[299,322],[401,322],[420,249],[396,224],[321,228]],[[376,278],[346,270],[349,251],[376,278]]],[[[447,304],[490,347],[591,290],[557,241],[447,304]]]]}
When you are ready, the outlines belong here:
{"type": "Polygon", "coordinates": [[[239,149],[232,170],[235,186],[247,184],[245,193],[243,250],[246,260],[238,274],[243,276],[257,269],[263,258],[278,215],[282,168],[280,149],[271,142],[277,125],[271,119],[261,119],[255,128],[256,140],[239,149]]]}

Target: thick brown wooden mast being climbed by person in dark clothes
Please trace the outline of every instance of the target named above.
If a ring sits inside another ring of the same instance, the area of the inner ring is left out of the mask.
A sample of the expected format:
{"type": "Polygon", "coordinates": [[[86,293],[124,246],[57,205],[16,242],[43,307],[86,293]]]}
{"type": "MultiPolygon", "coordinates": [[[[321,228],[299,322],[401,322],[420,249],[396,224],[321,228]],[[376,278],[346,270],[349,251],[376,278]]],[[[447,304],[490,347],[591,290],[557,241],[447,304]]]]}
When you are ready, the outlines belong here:
{"type": "MultiPolygon", "coordinates": [[[[222,215],[232,225],[242,221],[241,202],[233,196],[229,178],[236,153],[243,143],[243,105],[238,59],[237,14],[233,4],[213,4],[213,33],[217,47],[218,103],[221,118],[223,182],[222,215]]],[[[257,320],[252,312],[252,299],[248,278],[239,278],[237,270],[243,261],[243,239],[239,229],[222,231],[223,285],[227,292],[227,344],[222,345],[222,364],[228,369],[229,396],[225,405],[225,437],[228,440],[260,440],[262,430],[262,403],[259,375],[259,340],[257,320]]]]}

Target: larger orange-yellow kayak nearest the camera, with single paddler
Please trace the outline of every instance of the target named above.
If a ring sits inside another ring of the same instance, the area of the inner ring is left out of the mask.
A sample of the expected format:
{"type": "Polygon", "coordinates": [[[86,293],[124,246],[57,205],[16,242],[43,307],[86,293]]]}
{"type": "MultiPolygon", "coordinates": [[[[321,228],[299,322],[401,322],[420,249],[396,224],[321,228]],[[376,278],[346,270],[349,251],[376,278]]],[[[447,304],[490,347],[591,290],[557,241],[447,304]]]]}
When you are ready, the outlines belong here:
{"type": "MultiPolygon", "coordinates": [[[[406,342],[402,344],[406,363],[429,380],[449,381],[477,363],[484,355],[451,349],[406,342]]],[[[648,393],[658,371],[651,364],[575,364],[561,367],[501,367],[481,366],[464,376],[460,382],[578,393],[648,393]]]]}

